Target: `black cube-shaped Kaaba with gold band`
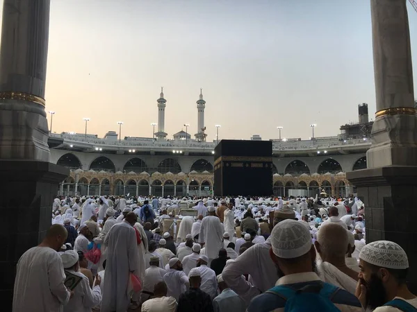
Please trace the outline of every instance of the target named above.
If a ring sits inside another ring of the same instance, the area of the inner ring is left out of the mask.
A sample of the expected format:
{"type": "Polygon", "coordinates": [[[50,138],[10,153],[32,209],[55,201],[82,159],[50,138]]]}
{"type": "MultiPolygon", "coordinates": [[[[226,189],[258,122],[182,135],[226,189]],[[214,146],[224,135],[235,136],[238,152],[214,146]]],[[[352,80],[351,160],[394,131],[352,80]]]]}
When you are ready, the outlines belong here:
{"type": "Polygon", "coordinates": [[[272,141],[222,140],[214,149],[215,196],[272,195],[272,141]]]}

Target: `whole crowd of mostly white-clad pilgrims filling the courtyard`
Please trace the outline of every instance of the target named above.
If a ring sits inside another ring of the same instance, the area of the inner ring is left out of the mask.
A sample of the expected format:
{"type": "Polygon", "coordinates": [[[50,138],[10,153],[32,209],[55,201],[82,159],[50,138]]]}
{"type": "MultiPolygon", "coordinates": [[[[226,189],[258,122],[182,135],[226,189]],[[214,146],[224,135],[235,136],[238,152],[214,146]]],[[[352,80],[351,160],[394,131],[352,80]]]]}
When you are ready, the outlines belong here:
{"type": "Polygon", "coordinates": [[[57,197],[51,221],[15,312],[417,311],[358,198],[57,197]]]}

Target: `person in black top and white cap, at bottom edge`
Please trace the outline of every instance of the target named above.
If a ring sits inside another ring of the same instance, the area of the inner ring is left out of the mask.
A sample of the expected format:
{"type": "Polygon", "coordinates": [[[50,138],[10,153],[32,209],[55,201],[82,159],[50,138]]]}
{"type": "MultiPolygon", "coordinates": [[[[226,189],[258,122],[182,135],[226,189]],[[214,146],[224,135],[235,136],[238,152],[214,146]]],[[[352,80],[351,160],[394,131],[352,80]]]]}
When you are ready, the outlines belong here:
{"type": "Polygon", "coordinates": [[[188,274],[190,289],[179,296],[177,312],[213,311],[210,295],[200,289],[202,285],[201,274],[199,268],[193,268],[188,274]]]}

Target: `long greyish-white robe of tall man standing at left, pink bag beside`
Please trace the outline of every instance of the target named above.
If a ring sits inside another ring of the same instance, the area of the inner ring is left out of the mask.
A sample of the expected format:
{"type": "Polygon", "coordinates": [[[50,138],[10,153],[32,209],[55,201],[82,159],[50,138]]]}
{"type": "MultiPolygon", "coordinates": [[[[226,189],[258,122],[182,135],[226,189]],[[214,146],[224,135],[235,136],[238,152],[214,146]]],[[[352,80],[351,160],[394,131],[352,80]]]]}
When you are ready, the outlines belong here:
{"type": "Polygon", "coordinates": [[[107,264],[101,312],[125,312],[130,303],[127,293],[130,272],[139,270],[135,229],[129,223],[117,223],[104,243],[107,245],[107,264]]]}

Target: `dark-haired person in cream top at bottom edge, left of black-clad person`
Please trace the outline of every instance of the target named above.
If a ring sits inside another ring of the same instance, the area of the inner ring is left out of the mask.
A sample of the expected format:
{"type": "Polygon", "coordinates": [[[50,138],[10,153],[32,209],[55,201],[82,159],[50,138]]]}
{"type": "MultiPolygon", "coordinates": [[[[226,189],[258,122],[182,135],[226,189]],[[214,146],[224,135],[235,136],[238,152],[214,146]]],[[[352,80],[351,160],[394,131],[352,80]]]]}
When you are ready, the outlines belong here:
{"type": "Polygon", "coordinates": [[[175,312],[177,311],[177,301],[173,297],[167,297],[167,284],[159,281],[154,286],[154,296],[152,299],[142,304],[142,312],[175,312]]]}

